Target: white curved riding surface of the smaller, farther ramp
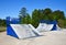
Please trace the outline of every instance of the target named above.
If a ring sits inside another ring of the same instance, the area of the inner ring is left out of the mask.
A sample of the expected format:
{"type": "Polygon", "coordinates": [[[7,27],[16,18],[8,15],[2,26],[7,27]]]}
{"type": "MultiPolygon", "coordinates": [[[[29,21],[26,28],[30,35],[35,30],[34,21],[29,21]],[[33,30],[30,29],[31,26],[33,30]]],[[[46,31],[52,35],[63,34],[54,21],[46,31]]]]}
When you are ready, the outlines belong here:
{"type": "Polygon", "coordinates": [[[54,26],[54,24],[40,23],[36,30],[40,32],[51,31],[53,29],[53,26],[54,26]]]}

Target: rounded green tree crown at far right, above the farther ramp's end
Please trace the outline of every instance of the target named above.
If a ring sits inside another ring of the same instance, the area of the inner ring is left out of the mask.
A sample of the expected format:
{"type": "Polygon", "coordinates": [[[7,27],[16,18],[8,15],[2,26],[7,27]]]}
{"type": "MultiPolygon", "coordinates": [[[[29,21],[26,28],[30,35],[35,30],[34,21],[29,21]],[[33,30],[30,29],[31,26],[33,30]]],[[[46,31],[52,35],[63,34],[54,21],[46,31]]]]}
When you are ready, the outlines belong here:
{"type": "Polygon", "coordinates": [[[59,19],[64,20],[65,19],[64,12],[59,11],[59,10],[56,10],[53,13],[50,14],[50,19],[51,20],[56,20],[56,21],[59,20],[59,19]]]}

